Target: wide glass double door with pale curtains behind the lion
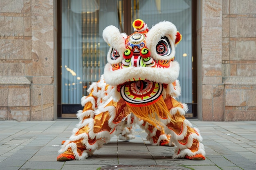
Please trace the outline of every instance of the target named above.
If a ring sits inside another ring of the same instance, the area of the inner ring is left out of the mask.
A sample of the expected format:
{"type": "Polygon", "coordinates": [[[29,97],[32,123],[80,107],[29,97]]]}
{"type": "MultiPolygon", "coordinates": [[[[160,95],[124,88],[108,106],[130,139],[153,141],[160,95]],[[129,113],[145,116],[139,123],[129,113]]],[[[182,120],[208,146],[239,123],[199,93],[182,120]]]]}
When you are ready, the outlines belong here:
{"type": "MultiPolygon", "coordinates": [[[[132,22],[139,18],[151,28],[159,21],[173,22],[182,34],[175,60],[180,63],[183,103],[193,103],[192,94],[192,0],[61,0],[61,88],[58,117],[75,117],[82,109],[81,97],[103,74],[109,46],[102,32],[115,25],[121,32],[133,32],[132,22]]],[[[192,113],[192,112],[191,112],[192,113]]]]}

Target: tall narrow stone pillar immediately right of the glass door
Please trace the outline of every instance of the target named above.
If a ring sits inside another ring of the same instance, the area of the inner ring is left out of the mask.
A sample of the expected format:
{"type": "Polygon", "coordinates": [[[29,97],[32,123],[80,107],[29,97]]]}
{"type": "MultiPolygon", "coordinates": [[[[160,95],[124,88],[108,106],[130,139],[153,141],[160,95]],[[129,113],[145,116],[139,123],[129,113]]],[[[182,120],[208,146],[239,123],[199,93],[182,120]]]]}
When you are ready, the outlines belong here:
{"type": "Polygon", "coordinates": [[[222,0],[198,0],[198,119],[224,120],[222,0]]]}

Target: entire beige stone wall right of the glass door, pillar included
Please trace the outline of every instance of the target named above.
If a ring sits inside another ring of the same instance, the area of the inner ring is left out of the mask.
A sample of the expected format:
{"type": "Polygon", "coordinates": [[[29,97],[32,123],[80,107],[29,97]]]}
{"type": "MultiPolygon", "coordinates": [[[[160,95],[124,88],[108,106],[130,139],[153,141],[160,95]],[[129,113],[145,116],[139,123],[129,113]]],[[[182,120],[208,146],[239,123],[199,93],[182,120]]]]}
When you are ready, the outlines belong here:
{"type": "Polygon", "coordinates": [[[198,118],[256,120],[256,1],[198,0],[198,7],[198,118]]]}

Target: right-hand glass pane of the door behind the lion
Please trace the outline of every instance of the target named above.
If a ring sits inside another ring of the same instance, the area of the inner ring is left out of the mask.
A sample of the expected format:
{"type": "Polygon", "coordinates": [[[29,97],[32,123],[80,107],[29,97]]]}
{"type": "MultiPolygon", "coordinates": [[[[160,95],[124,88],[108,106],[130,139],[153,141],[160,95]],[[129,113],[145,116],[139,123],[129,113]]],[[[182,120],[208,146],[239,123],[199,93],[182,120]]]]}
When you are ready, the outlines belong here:
{"type": "MultiPolygon", "coordinates": [[[[132,21],[139,18],[149,29],[160,21],[170,21],[182,34],[176,47],[175,60],[180,63],[179,81],[183,103],[192,103],[192,48],[191,2],[192,0],[135,0],[132,1],[132,21]]],[[[131,28],[132,29],[132,28],[131,28]]],[[[133,32],[133,29],[132,29],[133,32]]]]}

